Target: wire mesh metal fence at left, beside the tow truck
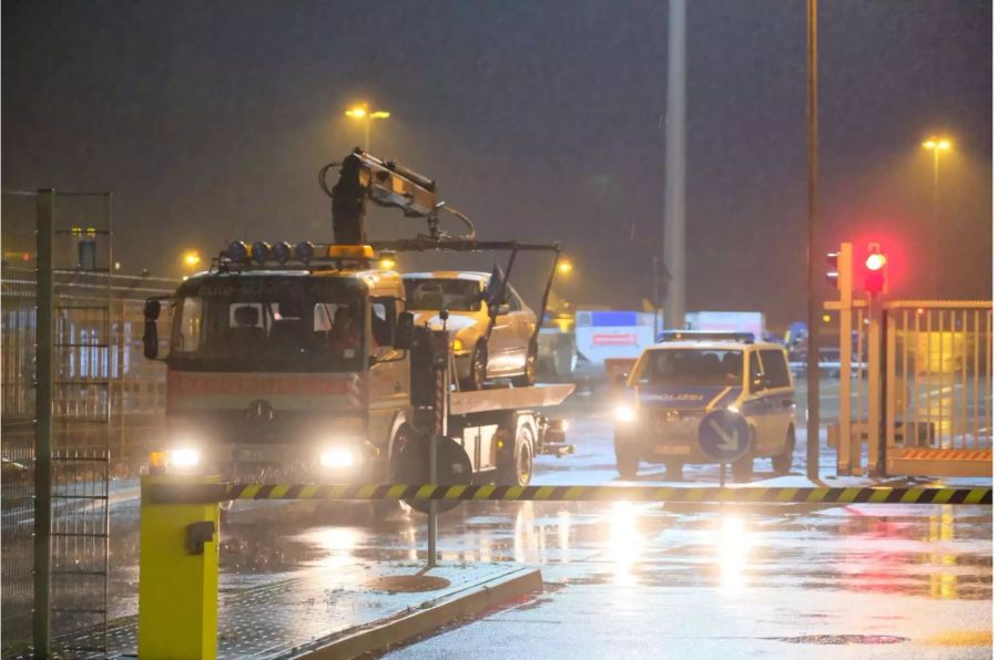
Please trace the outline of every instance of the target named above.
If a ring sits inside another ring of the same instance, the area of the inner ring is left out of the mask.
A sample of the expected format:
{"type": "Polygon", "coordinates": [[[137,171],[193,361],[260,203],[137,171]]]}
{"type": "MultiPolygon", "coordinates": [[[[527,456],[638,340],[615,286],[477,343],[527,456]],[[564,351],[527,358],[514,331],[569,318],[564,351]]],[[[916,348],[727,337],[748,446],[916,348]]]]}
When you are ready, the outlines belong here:
{"type": "Polygon", "coordinates": [[[50,308],[52,432],[45,440],[50,461],[41,464],[51,467],[35,474],[40,200],[33,193],[3,194],[0,635],[4,657],[24,652],[33,633],[37,637],[32,610],[47,612],[53,650],[70,654],[75,652],[75,631],[92,630],[106,620],[111,478],[135,472],[142,441],[164,408],[162,367],[141,357],[142,302],[167,293],[174,283],[112,274],[108,194],[48,194],[47,203],[54,208],[49,217],[54,295],[50,308]],[[45,485],[39,489],[39,484],[45,485]],[[37,506],[51,512],[51,525],[45,525],[48,560],[41,566],[39,557],[45,555],[34,553],[45,529],[35,528],[37,506]],[[48,573],[50,586],[35,592],[40,573],[48,573]]]}

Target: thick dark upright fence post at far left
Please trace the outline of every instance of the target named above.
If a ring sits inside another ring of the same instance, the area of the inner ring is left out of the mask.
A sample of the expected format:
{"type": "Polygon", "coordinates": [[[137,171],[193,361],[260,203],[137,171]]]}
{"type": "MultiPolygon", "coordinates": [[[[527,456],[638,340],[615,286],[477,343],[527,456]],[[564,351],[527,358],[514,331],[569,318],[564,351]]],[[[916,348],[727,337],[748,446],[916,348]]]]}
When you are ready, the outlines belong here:
{"type": "Polygon", "coordinates": [[[52,644],[52,386],[54,380],[53,229],[55,192],[38,190],[34,326],[34,612],[35,658],[52,644]]]}

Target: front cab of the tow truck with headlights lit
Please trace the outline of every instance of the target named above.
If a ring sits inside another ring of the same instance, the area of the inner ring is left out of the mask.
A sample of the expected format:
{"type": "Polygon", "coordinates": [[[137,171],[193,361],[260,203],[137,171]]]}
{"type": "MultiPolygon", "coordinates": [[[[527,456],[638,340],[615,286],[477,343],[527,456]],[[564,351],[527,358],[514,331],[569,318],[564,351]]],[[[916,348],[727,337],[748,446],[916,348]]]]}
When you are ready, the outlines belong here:
{"type": "Polygon", "coordinates": [[[411,410],[404,296],[397,272],[348,264],[184,281],[165,357],[167,460],[384,478],[411,410]]]}

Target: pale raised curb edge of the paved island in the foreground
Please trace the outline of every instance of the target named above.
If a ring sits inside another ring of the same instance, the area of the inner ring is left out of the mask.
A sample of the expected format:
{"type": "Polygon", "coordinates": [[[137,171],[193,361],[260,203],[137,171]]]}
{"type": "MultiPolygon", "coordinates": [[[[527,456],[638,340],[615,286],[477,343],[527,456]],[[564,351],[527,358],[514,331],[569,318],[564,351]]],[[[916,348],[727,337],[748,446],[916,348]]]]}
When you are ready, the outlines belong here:
{"type": "Polygon", "coordinates": [[[313,649],[299,649],[289,657],[325,660],[356,658],[383,651],[407,640],[431,632],[457,619],[473,617],[516,598],[543,589],[537,568],[520,568],[467,587],[464,592],[445,597],[418,611],[405,611],[380,619],[361,629],[346,631],[332,641],[318,641],[313,649]]]}

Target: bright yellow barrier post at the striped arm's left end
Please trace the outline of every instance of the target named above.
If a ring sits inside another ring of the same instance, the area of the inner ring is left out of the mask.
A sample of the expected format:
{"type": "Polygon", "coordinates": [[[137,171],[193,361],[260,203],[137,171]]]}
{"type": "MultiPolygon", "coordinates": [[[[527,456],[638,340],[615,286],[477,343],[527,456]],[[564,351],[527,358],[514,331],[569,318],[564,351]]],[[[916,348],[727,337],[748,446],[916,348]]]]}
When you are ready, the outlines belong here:
{"type": "Polygon", "coordinates": [[[140,658],[185,660],[216,654],[218,504],[152,504],[150,486],[217,482],[217,476],[191,475],[154,475],[142,479],[140,658]]]}

